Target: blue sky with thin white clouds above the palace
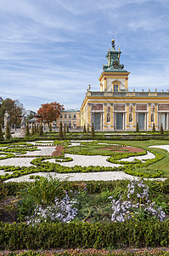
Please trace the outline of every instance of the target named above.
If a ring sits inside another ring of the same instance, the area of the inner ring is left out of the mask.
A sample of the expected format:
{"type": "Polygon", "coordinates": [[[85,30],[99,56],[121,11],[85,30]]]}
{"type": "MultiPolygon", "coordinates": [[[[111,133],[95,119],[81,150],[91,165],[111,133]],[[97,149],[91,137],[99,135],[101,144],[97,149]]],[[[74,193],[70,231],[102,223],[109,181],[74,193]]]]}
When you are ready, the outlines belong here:
{"type": "Polygon", "coordinates": [[[37,111],[99,90],[115,38],[128,90],[169,89],[168,0],[1,0],[0,96],[37,111]]]}

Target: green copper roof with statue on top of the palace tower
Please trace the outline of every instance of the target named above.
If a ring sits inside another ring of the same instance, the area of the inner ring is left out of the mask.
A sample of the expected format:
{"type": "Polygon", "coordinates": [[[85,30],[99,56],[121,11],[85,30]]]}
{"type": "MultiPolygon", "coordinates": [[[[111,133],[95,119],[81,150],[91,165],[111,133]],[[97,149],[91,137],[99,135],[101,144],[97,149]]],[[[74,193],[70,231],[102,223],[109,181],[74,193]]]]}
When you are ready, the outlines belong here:
{"type": "Polygon", "coordinates": [[[107,55],[105,56],[107,58],[107,65],[103,66],[104,72],[121,72],[126,73],[127,70],[124,69],[124,65],[120,64],[120,56],[121,56],[121,50],[115,50],[115,40],[112,39],[111,41],[112,49],[108,50],[107,55]]]}

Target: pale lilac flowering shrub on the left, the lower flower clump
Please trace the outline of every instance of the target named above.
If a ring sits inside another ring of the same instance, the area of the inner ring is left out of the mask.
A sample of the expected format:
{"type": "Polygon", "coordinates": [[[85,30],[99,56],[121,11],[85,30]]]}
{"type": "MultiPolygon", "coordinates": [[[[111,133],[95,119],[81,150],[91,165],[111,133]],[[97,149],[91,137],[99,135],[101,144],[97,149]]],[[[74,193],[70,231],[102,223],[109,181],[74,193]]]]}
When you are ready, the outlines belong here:
{"type": "Polygon", "coordinates": [[[37,206],[31,217],[27,217],[26,223],[35,225],[42,222],[54,223],[64,222],[70,223],[76,217],[77,209],[73,207],[76,200],[70,200],[70,197],[65,192],[65,197],[59,200],[57,197],[54,200],[54,205],[46,208],[37,206]]]}

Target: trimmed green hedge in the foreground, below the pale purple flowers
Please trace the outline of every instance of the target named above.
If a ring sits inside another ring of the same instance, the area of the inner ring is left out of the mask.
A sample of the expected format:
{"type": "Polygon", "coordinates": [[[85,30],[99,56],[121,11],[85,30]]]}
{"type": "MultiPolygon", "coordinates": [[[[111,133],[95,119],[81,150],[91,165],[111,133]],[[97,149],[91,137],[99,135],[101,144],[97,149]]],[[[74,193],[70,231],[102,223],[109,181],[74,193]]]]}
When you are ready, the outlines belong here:
{"type": "Polygon", "coordinates": [[[0,249],[168,247],[169,222],[0,224],[0,249]]]}

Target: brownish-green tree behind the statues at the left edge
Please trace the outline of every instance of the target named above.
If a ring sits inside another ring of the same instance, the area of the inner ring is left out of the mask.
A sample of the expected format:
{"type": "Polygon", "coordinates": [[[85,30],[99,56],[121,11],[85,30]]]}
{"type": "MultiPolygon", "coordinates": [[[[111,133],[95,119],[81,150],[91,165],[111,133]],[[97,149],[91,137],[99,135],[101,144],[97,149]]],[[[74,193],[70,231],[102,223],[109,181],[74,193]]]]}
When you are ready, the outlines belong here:
{"type": "Polygon", "coordinates": [[[12,100],[10,98],[6,98],[0,103],[0,122],[1,124],[4,124],[4,113],[5,111],[8,111],[8,114],[10,115],[11,124],[19,126],[20,125],[20,119],[17,118],[18,116],[22,116],[25,109],[23,107],[23,104],[20,103],[18,100],[12,100]]]}

